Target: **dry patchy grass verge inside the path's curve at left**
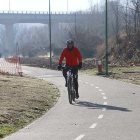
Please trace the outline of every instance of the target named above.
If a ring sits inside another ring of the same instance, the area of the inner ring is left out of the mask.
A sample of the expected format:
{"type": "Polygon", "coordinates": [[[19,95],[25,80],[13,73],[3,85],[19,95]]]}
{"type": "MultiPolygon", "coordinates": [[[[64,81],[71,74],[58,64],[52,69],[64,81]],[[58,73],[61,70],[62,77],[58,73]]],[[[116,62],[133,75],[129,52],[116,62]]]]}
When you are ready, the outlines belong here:
{"type": "Polygon", "coordinates": [[[59,97],[46,81],[0,75],[0,139],[45,114],[59,97]]]}

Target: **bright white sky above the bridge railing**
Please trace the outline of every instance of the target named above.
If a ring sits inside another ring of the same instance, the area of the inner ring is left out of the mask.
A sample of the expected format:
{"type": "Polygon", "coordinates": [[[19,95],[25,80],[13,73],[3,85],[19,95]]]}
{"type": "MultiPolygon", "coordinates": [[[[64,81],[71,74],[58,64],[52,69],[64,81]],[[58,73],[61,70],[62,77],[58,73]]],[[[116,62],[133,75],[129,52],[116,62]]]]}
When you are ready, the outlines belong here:
{"type": "MultiPolygon", "coordinates": [[[[52,11],[67,11],[67,0],[50,0],[52,11]]],[[[101,0],[68,0],[69,11],[84,10],[101,0]]],[[[10,0],[11,10],[48,11],[49,0],[10,0]]],[[[9,10],[9,0],[0,0],[0,11],[9,10]]]]}

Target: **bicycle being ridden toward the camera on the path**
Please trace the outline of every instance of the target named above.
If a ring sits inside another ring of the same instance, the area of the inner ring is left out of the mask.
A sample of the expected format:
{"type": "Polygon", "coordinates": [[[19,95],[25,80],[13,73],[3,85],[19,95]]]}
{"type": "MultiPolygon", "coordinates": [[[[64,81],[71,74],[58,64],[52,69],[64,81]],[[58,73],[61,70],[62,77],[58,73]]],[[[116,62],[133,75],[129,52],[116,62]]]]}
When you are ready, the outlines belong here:
{"type": "Polygon", "coordinates": [[[68,69],[67,74],[67,90],[68,90],[68,98],[69,103],[72,104],[72,101],[75,101],[76,91],[74,84],[74,74],[72,73],[72,69],[78,68],[78,66],[63,66],[62,69],[68,69]]]}

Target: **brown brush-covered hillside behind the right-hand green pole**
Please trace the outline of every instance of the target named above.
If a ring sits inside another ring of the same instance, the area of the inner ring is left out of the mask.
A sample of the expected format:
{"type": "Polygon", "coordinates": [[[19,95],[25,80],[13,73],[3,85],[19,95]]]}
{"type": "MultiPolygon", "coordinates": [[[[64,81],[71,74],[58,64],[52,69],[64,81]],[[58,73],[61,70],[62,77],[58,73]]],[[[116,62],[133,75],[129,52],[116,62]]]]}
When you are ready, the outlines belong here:
{"type": "MultiPolygon", "coordinates": [[[[103,61],[105,60],[104,44],[97,51],[97,57],[103,61]]],[[[112,37],[109,39],[108,48],[109,63],[112,65],[140,65],[140,38],[132,37],[128,40],[125,35],[120,35],[119,44],[116,45],[115,37],[112,37]]]]}

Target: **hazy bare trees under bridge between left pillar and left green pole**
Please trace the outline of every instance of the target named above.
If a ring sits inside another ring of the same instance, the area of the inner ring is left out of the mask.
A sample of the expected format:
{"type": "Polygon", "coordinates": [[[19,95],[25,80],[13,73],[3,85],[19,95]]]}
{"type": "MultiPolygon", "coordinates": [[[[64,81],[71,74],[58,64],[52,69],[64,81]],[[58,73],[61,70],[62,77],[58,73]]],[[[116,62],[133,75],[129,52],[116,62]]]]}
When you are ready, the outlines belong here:
{"type": "Polygon", "coordinates": [[[24,27],[18,33],[16,41],[19,42],[23,56],[35,56],[38,53],[44,53],[49,46],[48,28],[41,27],[24,27]]]}

